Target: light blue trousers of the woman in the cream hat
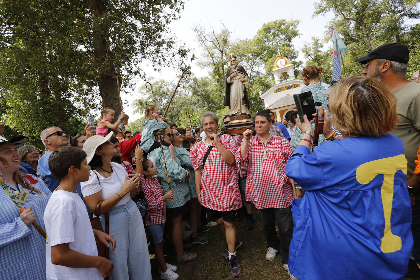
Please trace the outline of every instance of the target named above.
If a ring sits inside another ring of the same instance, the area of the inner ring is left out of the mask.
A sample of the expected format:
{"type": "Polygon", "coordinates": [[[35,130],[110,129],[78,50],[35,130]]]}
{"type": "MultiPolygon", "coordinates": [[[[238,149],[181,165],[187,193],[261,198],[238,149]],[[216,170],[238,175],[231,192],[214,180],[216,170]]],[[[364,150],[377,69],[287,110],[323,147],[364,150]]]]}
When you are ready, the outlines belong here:
{"type": "MultiPolygon", "coordinates": [[[[105,228],[103,215],[101,222],[105,228]]],[[[130,199],[109,212],[109,234],[117,242],[115,251],[109,250],[109,259],[115,265],[109,279],[152,279],[142,215],[134,201],[130,199]]]]}

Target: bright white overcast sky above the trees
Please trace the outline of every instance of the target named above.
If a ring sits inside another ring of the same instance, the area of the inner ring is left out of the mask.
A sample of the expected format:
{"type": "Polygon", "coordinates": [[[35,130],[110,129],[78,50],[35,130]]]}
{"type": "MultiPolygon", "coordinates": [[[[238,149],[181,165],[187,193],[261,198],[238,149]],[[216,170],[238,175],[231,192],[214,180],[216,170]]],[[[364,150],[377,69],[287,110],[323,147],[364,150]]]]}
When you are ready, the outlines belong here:
{"type": "MultiPolygon", "coordinates": [[[[274,0],[243,0],[235,2],[231,5],[226,0],[189,0],[185,3],[185,9],[181,12],[181,18],[173,21],[169,28],[180,42],[185,42],[193,49],[194,54],[198,57],[202,53],[195,33],[192,30],[194,24],[201,23],[210,28],[213,26],[215,31],[222,28],[222,21],[225,26],[234,31],[232,36],[238,39],[250,39],[255,36],[262,24],[277,19],[299,19],[299,32],[302,34],[299,38],[293,40],[294,47],[299,50],[303,46],[304,41],[310,41],[312,36],[324,37],[325,25],[333,18],[333,13],[326,16],[318,16],[312,18],[313,6],[316,1],[299,0],[299,1],[274,1],[274,0]]],[[[299,59],[304,61],[302,52],[299,51],[299,59]]],[[[191,71],[195,76],[207,76],[208,69],[201,69],[192,62],[191,71]]],[[[154,72],[153,68],[144,65],[144,70],[148,77],[156,79],[178,80],[178,70],[165,68],[160,73],[154,72]]],[[[142,79],[135,80],[135,89],[133,94],[137,94],[139,87],[143,86],[145,81],[142,79]]],[[[131,100],[133,97],[126,94],[130,92],[121,92],[123,100],[131,100]]],[[[171,93],[169,93],[171,94],[171,93]]],[[[129,102],[131,103],[131,102],[129,102]]],[[[124,111],[130,116],[130,122],[140,118],[140,114],[133,114],[133,108],[125,107],[124,111]]]]}

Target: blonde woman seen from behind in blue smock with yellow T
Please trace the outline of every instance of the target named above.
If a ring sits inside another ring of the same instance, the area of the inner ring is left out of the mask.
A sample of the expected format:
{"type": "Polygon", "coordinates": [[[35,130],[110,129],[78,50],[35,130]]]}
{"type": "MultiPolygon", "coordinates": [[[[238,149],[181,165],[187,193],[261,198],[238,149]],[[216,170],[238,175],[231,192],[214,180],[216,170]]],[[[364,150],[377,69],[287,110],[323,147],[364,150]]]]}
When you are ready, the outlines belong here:
{"type": "Polygon", "coordinates": [[[310,153],[312,125],[289,158],[286,175],[302,186],[292,201],[291,274],[305,279],[404,279],[413,246],[407,160],[389,134],[399,117],[396,98],[379,81],[345,79],[331,90],[331,129],[310,153]]]}

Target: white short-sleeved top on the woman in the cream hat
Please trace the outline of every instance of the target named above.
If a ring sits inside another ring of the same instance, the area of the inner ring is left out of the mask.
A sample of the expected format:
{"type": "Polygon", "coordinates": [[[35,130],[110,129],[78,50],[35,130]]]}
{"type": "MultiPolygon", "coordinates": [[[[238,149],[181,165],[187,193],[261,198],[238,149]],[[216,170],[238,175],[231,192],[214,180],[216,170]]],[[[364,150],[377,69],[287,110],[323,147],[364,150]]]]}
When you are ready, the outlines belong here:
{"type": "MultiPolygon", "coordinates": [[[[89,180],[80,183],[83,196],[90,196],[96,194],[98,191],[102,191],[102,200],[105,200],[109,199],[111,196],[115,195],[117,191],[120,191],[121,188],[123,188],[124,180],[127,175],[126,170],[124,170],[124,167],[122,167],[121,164],[115,162],[111,162],[111,166],[113,172],[108,178],[102,177],[97,170],[90,170],[89,180]]],[[[126,204],[129,199],[130,193],[127,193],[115,206],[126,204]]]]}

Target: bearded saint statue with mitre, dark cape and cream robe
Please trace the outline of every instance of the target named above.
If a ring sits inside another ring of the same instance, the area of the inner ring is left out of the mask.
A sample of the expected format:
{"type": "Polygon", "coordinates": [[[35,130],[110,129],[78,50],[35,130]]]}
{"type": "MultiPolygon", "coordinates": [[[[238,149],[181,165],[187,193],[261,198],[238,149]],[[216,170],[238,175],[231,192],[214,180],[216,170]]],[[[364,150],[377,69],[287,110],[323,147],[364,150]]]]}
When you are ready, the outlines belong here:
{"type": "Polygon", "coordinates": [[[230,115],[247,115],[249,114],[249,98],[245,84],[248,81],[248,74],[242,66],[238,65],[233,53],[229,59],[232,67],[226,73],[226,92],[223,105],[229,106],[230,115]]]}

